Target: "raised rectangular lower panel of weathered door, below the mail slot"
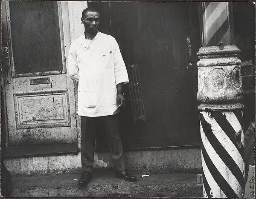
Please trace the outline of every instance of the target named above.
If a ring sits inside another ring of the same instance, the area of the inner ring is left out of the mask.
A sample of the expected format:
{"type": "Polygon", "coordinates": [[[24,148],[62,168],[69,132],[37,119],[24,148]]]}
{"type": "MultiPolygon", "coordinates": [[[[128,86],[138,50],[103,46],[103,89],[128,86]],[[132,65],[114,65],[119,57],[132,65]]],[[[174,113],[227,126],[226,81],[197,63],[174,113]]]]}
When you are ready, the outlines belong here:
{"type": "Polygon", "coordinates": [[[67,92],[14,94],[16,128],[70,126],[67,92]]]}

